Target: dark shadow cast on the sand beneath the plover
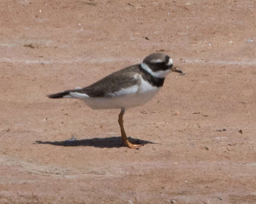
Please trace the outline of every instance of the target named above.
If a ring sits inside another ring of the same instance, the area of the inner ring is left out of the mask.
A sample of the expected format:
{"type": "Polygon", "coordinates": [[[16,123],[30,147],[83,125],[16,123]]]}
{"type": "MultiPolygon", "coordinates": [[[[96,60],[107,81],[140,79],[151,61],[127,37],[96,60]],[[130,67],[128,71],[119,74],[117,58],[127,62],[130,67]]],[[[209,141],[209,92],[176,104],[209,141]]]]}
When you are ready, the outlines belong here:
{"type": "MultiPolygon", "coordinates": [[[[120,148],[123,147],[121,144],[121,137],[106,137],[106,138],[92,138],[92,139],[79,139],[72,137],[68,140],[63,141],[35,141],[33,144],[51,144],[56,146],[94,146],[99,148],[120,148]]],[[[142,140],[142,139],[134,139],[132,137],[128,137],[129,141],[133,144],[160,144],[154,143],[152,141],[142,140]]]]}

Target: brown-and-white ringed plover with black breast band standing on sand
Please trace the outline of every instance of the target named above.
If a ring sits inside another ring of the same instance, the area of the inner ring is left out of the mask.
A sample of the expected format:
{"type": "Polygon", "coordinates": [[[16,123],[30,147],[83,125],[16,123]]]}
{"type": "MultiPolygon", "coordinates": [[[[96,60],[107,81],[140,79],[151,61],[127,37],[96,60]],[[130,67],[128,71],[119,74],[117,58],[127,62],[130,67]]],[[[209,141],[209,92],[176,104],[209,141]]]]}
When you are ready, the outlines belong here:
{"type": "Polygon", "coordinates": [[[173,67],[168,55],[153,53],[141,64],[132,65],[114,72],[85,88],[65,90],[48,95],[49,98],[78,98],[92,109],[121,109],[118,122],[121,128],[122,144],[129,148],[139,148],[132,144],[124,131],[123,116],[126,109],[140,106],[151,100],[162,88],[164,79],[173,67]]]}

